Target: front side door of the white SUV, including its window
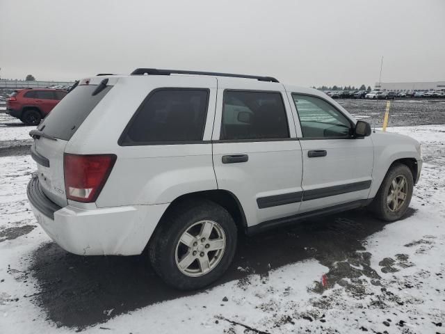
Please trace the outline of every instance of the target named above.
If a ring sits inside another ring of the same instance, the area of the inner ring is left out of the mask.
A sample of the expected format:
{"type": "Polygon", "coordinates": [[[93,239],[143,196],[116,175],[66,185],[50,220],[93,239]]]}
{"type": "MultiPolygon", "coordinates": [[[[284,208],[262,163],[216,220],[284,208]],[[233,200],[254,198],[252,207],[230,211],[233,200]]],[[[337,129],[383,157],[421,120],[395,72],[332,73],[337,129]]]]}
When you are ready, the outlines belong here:
{"type": "Polygon", "coordinates": [[[300,93],[288,96],[300,127],[300,212],[368,198],[374,159],[371,137],[354,138],[353,120],[323,97],[300,93]]]}

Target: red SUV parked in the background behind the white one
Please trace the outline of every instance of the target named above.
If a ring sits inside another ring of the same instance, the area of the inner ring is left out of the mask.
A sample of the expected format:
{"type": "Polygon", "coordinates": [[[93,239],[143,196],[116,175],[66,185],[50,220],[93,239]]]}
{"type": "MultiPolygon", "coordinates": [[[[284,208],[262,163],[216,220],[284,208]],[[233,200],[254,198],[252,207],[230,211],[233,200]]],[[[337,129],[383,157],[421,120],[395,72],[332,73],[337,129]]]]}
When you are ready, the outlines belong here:
{"type": "Polygon", "coordinates": [[[6,99],[6,113],[19,118],[26,125],[38,125],[65,95],[67,92],[60,89],[14,90],[6,99]]]}

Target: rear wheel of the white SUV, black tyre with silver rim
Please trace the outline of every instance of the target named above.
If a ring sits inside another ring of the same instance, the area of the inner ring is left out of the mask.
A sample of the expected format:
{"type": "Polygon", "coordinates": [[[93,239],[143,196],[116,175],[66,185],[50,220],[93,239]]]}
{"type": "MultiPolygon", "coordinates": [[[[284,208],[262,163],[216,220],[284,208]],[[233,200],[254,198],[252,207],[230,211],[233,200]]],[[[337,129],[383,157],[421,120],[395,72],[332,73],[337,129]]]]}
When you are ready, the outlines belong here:
{"type": "Polygon", "coordinates": [[[232,262],[237,230],[226,209],[209,200],[186,201],[159,222],[149,259],[165,283],[200,289],[225,273],[232,262]]]}

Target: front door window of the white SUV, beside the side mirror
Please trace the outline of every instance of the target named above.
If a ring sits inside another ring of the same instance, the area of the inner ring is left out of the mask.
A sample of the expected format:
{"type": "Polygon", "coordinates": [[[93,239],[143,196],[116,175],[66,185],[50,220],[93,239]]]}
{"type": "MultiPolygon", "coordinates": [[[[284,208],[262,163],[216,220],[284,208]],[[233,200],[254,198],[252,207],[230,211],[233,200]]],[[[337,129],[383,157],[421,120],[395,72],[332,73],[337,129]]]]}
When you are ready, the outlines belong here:
{"type": "Polygon", "coordinates": [[[325,100],[307,95],[292,94],[298,111],[303,137],[347,137],[350,122],[325,100]]]}

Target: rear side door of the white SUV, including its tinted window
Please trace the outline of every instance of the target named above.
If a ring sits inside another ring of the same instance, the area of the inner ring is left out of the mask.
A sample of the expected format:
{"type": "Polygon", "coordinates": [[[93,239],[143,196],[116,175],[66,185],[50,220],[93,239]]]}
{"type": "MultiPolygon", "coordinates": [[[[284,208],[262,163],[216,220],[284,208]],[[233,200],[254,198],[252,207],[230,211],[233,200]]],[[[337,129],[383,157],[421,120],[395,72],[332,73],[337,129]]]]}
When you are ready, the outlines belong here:
{"type": "Polygon", "coordinates": [[[218,78],[212,140],[218,189],[234,193],[248,226],[298,212],[301,148],[281,84],[218,78]]]}

